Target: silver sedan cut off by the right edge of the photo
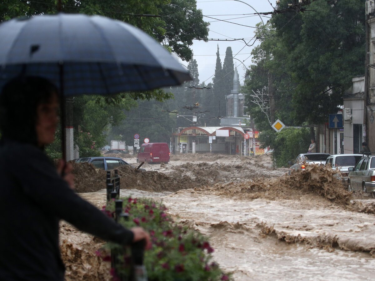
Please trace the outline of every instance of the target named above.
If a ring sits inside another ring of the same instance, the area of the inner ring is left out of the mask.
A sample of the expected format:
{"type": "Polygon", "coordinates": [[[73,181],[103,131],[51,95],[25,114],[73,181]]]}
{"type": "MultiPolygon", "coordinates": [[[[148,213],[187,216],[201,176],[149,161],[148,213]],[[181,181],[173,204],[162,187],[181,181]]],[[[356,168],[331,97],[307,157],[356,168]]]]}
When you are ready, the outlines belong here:
{"type": "Polygon", "coordinates": [[[375,155],[363,155],[355,167],[349,168],[348,190],[375,192],[375,155]]]}

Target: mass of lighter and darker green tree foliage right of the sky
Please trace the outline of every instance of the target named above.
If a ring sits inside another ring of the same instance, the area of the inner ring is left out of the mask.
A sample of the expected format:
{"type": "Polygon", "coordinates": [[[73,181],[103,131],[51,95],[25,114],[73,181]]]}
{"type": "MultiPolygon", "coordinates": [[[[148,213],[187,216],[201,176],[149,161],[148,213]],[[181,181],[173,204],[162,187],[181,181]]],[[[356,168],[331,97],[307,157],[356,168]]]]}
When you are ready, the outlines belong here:
{"type": "MultiPolygon", "coordinates": [[[[288,2],[281,0],[280,9],[288,2]]],[[[352,77],[363,73],[364,1],[317,0],[308,7],[305,12],[275,14],[265,29],[256,31],[261,43],[252,51],[243,92],[257,119],[264,116],[249,102],[249,94],[269,91],[271,85],[276,118],[288,126],[326,122],[342,105],[352,77]]]]}

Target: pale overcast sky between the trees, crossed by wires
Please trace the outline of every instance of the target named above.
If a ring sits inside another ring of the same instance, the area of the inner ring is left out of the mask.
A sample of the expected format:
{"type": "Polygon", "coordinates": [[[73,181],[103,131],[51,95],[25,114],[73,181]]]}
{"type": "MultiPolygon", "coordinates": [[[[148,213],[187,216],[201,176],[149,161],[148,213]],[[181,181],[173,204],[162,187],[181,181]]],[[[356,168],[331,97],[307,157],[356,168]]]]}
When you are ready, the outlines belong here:
{"type": "MultiPolygon", "coordinates": [[[[197,0],[198,9],[202,10],[203,20],[210,22],[210,31],[208,33],[208,38],[213,39],[239,39],[243,38],[246,42],[249,42],[249,45],[254,43],[254,39],[251,40],[255,34],[254,30],[255,24],[263,19],[264,23],[269,20],[270,15],[267,16],[258,16],[258,15],[249,15],[257,12],[272,12],[273,7],[275,7],[276,0],[197,0]],[[245,3],[249,4],[248,6],[245,3]],[[271,6],[271,4],[272,6],[271,6]],[[254,9],[255,10],[254,10],[254,9]],[[248,14],[248,15],[246,15],[248,14]],[[208,18],[211,17],[211,18],[208,18]],[[212,19],[216,18],[216,19],[212,19]],[[217,20],[219,19],[219,21],[217,20]],[[220,21],[221,20],[221,21],[220,21]],[[234,22],[224,22],[230,21],[234,22]],[[242,25],[247,25],[242,26],[242,25]]],[[[212,81],[212,78],[215,73],[216,65],[216,51],[217,44],[219,44],[219,52],[221,63],[223,64],[225,58],[225,51],[228,46],[232,48],[234,58],[237,58],[240,61],[245,60],[243,63],[248,67],[251,64],[251,50],[252,46],[246,46],[245,43],[241,40],[237,41],[198,41],[194,40],[192,49],[194,53],[194,59],[198,63],[199,71],[199,82],[205,81],[207,85],[212,81]],[[238,54],[237,54],[238,53],[238,54]]],[[[258,44],[258,41],[255,42],[254,46],[258,44]]],[[[237,64],[237,70],[239,72],[240,83],[243,84],[243,76],[245,74],[245,69],[243,64],[236,59],[233,60],[237,64]]],[[[182,61],[183,64],[187,66],[187,62],[182,61]]]]}

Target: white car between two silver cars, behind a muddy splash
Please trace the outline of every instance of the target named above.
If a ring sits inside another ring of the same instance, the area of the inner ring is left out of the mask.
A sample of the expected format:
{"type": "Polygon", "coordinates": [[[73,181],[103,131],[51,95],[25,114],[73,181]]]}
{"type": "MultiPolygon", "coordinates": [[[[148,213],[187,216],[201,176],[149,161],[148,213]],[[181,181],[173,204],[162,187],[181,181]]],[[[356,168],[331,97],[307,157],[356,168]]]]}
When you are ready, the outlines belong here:
{"type": "Polygon", "coordinates": [[[344,184],[348,182],[349,168],[356,166],[358,161],[361,159],[363,154],[335,154],[330,155],[325,165],[330,165],[333,170],[339,170],[339,179],[344,181],[344,184]]]}

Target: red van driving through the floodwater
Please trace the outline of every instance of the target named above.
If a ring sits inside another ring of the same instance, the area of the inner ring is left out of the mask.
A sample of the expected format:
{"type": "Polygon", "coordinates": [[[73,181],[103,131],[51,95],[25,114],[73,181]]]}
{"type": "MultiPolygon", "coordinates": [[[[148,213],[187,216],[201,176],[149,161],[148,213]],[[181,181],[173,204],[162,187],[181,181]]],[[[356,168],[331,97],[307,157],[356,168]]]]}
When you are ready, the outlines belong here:
{"type": "Polygon", "coordinates": [[[147,163],[168,163],[170,158],[168,143],[143,143],[141,148],[139,148],[137,163],[142,161],[147,163]]]}

